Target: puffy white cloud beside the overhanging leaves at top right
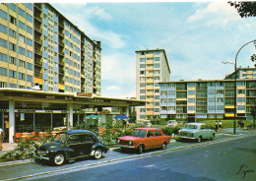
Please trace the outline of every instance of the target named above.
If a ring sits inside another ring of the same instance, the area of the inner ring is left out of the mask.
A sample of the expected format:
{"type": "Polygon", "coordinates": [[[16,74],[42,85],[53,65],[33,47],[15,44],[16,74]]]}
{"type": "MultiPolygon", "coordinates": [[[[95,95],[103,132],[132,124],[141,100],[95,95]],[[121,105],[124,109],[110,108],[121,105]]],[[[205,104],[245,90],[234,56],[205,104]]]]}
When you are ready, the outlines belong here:
{"type": "Polygon", "coordinates": [[[239,20],[236,10],[226,2],[213,2],[206,8],[199,9],[187,19],[187,23],[205,21],[205,25],[226,25],[230,21],[239,20]]]}

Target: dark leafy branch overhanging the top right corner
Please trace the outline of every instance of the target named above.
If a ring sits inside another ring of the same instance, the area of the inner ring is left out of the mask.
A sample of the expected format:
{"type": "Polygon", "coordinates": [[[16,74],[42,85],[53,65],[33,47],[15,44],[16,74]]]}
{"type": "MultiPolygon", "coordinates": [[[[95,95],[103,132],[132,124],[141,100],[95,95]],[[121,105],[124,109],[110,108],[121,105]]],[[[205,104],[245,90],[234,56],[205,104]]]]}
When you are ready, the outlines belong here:
{"type": "Polygon", "coordinates": [[[231,2],[228,4],[234,6],[241,18],[256,17],[256,2],[231,2]]]}

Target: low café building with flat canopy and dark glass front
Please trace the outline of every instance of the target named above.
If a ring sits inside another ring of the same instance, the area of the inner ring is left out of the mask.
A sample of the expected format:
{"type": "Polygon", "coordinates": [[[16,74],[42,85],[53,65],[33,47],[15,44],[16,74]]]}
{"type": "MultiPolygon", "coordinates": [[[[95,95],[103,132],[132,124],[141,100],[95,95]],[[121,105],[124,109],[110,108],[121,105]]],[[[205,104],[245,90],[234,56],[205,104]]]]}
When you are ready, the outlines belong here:
{"type": "Polygon", "coordinates": [[[104,121],[103,107],[121,107],[129,116],[129,106],[142,106],[146,101],[88,96],[84,93],[63,93],[0,89],[0,128],[4,141],[14,142],[16,133],[53,131],[66,126],[71,129],[88,115],[104,121]]]}

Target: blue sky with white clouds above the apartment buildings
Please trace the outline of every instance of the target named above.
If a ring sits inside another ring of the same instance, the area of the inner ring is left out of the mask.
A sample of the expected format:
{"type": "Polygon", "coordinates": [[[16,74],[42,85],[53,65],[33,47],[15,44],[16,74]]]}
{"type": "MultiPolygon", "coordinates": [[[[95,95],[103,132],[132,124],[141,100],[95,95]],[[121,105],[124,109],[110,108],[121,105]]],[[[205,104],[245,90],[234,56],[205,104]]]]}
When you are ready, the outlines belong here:
{"type": "MultiPolygon", "coordinates": [[[[256,39],[256,18],[226,2],[88,2],[50,4],[91,39],[101,41],[101,96],[136,96],[136,50],[165,49],[170,81],[222,80],[239,48],[256,39]]],[[[70,2],[70,1],[69,1],[70,2]]],[[[253,67],[253,43],[237,67],[253,67]]]]}

